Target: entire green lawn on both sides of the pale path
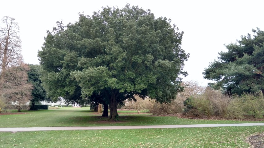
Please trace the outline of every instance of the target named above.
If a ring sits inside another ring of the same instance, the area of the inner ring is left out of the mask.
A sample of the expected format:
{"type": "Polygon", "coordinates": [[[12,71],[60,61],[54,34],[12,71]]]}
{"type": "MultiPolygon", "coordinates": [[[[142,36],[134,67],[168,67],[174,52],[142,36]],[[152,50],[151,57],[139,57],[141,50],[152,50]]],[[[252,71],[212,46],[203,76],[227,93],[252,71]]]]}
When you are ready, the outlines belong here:
{"type": "MultiPolygon", "coordinates": [[[[15,111],[11,111],[15,112],[15,111]]],[[[256,121],[197,120],[173,116],[152,116],[136,111],[119,111],[120,121],[109,122],[89,108],[59,108],[1,115],[0,127],[184,125],[256,123],[256,121]]],[[[263,121],[258,121],[263,122],[263,121]]],[[[245,147],[245,138],[264,132],[263,126],[175,128],[138,130],[72,130],[1,132],[0,148],[5,147],[245,147]]]]}

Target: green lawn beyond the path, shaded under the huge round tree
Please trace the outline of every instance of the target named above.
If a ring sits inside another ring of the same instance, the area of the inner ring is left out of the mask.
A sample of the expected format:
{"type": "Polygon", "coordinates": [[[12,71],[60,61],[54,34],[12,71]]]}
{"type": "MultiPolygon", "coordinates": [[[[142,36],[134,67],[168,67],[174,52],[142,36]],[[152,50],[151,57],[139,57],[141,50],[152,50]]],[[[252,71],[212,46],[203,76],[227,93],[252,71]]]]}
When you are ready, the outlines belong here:
{"type": "Polygon", "coordinates": [[[61,108],[38,111],[23,111],[25,114],[1,115],[0,127],[49,127],[49,126],[117,126],[117,125],[185,125],[256,123],[264,121],[198,120],[175,116],[151,116],[136,111],[119,111],[120,121],[109,122],[107,117],[89,108],[61,108]]]}

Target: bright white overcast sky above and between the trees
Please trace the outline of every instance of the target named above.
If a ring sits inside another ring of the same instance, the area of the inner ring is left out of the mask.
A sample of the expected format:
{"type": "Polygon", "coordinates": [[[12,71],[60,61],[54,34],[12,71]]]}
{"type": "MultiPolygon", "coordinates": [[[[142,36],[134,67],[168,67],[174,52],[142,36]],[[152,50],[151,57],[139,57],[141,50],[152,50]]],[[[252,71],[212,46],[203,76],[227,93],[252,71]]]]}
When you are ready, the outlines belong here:
{"type": "Polygon", "coordinates": [[[264,30],[263,0],[12,0],[1,2],[0,18],[15,18],[20,25],[24,62],[39,64],[37,51],[41,50],[46,30],[52,30],[56,21],[74,23],[79,12],[92,15],[102,6],[122,8],[127,3],[150,9],[156,18],[170,18],[184,31],[182,48],[190,57],[184,66],[189,75],[183,80],[196,80],[203,86],[210,81],[203,79],[202,72],[217,59],[218,52],[227,51],[223,44],[236,42],[252,28],[264,30]]]}

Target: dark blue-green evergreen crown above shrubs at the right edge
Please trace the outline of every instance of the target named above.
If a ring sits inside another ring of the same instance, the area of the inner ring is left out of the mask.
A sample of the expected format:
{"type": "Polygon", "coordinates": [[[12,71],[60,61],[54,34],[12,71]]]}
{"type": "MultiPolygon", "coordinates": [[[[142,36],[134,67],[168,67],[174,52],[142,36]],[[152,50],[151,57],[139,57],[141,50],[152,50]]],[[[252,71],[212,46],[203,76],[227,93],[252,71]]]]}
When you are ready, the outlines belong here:
{"type": "Polygon", "coordinates": [[[264,31],[252,29],[236,43],[226,45],[218,60],[203,72],[204,78],[214,80],[213,88],[223,88],[227,94],[264,93],[264,31]]]}

